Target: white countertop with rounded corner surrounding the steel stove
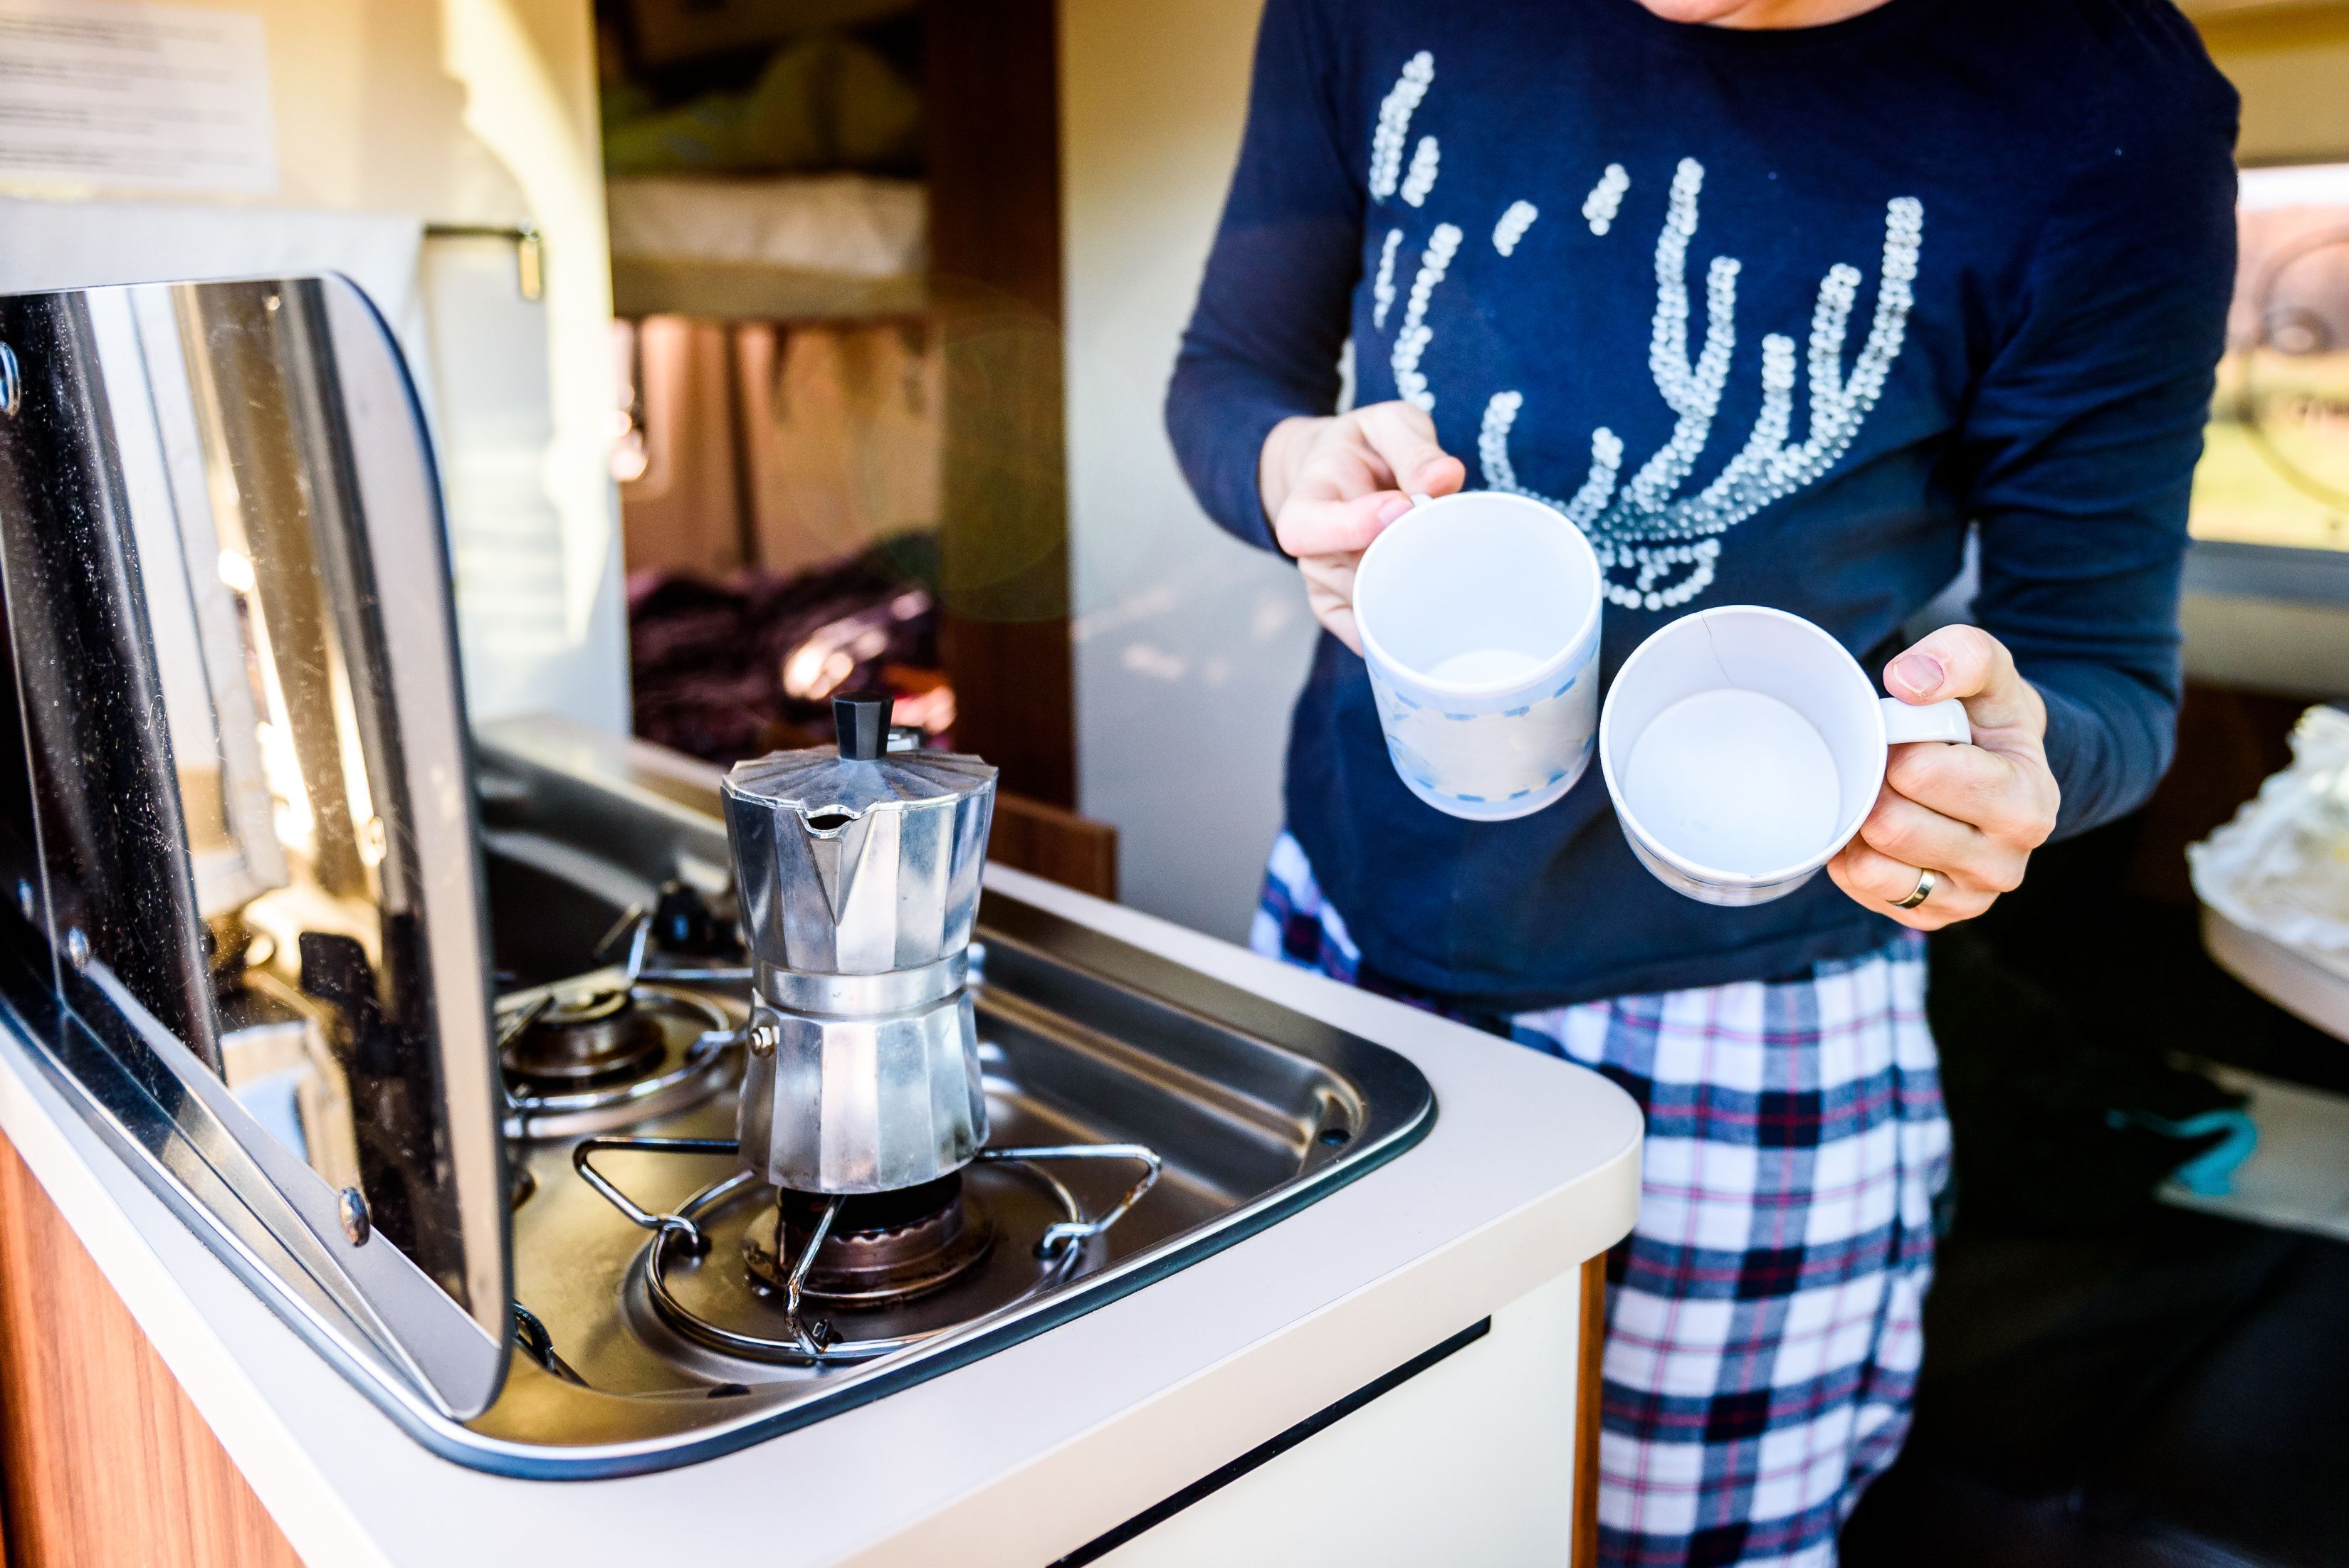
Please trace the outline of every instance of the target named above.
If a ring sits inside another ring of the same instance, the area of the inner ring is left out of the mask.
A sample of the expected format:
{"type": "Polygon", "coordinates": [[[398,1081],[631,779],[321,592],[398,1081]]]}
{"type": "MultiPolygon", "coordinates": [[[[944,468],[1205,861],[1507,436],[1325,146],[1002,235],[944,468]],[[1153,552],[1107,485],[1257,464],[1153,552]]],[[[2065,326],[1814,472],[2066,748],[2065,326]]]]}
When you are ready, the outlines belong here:
{"type": "Polygon", "coordinates": [[[0,1131],[312,1568],[1036,1568],[1630,1230],[1640,1113],[1583,1068],[989,869],[989,885],[1409,1056],[1435,1129],[1360,1181],[970,1366],[684,1469],[514,1481],[418,1446],[0,1033],[0,1131]]]}

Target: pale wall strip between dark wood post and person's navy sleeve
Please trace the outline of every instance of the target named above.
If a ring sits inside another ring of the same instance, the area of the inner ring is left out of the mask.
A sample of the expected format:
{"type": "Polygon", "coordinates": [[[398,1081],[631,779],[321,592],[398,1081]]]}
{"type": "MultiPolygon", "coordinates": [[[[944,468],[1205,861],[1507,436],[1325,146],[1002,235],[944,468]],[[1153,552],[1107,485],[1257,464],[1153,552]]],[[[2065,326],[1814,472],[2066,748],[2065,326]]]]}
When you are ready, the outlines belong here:
{"type": "Polygon", "coordinates": [[[1078,807],[1128,904],[1243,937],[1313,624],[1191,500],[1160,420],[1247,108],[1261,0],[1062,0],[1078,807]]]}

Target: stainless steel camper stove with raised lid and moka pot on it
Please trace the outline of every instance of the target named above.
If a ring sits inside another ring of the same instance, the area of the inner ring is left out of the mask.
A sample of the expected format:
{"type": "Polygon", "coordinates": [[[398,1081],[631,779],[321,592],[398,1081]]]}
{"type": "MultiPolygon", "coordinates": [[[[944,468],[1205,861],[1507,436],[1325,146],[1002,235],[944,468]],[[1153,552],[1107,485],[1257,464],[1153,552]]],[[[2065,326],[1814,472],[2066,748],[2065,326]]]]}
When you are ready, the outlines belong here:
{"type": "Polygon", "coordinates": [[[982,897],[994,770],[886,753],[876,709],[733,777],[467,732],[418,404],[348,284],[0,317],[38,366],[0,425],[0,1012],[430,1448],[740,1448],[1431,1127],[1402,1056],[982,897]]]}

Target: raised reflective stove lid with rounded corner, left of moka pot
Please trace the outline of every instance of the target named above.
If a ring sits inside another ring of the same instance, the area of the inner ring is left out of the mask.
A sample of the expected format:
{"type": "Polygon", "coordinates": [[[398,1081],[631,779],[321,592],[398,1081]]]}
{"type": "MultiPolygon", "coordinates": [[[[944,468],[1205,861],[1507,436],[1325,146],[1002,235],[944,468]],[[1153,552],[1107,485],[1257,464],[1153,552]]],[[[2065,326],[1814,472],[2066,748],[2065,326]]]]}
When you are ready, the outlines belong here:
{"type": "Polygon", "coordinates": [[[338,277],[0,296],[0,885],[47,1042],[101,1042],[207,1150],[218,1232],[308,1232],[247,1253],[287,1300],[362,1303],[381,1361],[482,1411],[512,1329],[486,911],[399,350],[338,277]],[[254,1115],[270,1040],[298,1115],[254,1115]]]}

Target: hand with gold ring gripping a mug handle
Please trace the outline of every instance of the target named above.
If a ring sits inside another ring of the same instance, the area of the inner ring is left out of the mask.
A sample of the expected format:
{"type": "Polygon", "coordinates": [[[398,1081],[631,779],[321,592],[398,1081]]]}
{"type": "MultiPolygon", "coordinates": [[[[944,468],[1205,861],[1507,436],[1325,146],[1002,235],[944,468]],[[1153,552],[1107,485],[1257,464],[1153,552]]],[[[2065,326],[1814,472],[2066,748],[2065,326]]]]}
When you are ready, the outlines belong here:
{"type": "Polygon", "coordinates": [[[1828,876],[1865,908],[1936,932],[2020,887],[2032,850],[2055,831],[2048,709],[2006,643],[1978,627],[1943,627],[1896,657],[1884,667],[1884,690],[1919,704],[1961,697],[1973,744],[1893,746],[1877,807],[1828,861],[1828,876]],[[1893,908],[1917,892],[1926,866],[1933,894],[1917,908],[1893,908]]]}

